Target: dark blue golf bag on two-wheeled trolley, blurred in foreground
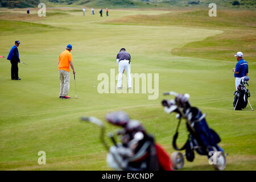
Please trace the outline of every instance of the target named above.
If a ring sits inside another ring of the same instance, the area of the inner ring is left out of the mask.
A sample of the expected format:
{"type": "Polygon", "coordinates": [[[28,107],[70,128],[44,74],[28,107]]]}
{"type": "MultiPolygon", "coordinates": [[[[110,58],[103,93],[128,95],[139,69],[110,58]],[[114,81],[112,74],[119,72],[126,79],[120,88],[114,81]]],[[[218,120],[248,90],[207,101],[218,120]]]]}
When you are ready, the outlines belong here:
{"type": "Polygon", "coordinates": [[[226,167],[226,155],[224,150],[217,145],[221,141],[220,137],[207,125],[205,120],[206,114],[202,114],[196,107],[191,107],[188,101],[189,94],[183,95],[168,92],[164,93],[164,95],[175,96],[173,100],[163,100],[162,105],[166,113],[171,114],[175,112],[177,113],[176,118],[179,119],[172,146],[177,151],[185,150],[185,154],[181,154],[181,152],[172,153],[171,160],[174,168],[183,168],[184,156],[189,162],[193,162],[195,158],[194,151],[196,151],[199,155],[208,156],[209,163],[212,163],[215,169],[223,170],[226,167]],[[186,121],[189,135],[184,146],[178,148],[176,140],[179,135],[178,129],[182,118],[186,121]]]}

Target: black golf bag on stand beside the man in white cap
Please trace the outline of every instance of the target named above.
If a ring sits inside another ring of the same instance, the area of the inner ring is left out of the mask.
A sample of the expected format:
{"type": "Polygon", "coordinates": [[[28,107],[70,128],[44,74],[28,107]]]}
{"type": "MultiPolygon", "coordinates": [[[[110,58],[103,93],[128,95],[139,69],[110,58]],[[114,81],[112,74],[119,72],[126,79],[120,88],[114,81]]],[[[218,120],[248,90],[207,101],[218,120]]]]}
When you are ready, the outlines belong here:
{"type": "Polygon", "coordinates": [[[248,104],[248,98],[251,96],[250,91],[246,88],[245,84],[248,84],[249,77],[245,76],[241,79],[240,84],[237,87],[237,91],[234,92],[233,107],[234,110],[242,110],[248,104]]]}

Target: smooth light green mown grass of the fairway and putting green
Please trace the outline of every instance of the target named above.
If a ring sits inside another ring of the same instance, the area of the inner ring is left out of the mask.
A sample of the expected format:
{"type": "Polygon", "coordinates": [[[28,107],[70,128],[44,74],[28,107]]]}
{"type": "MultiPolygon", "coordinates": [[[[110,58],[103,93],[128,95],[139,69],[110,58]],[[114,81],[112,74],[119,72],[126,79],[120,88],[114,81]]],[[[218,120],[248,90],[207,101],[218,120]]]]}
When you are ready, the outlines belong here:
{"type": "MultiPolygon", "coordinates": [[[[9,10],[5,13],[12,16],[9,10]]],[[[162,93],[171,90],[189,93],[191,104],[207,113],[209,126],[220,134],[220,146],[229,153],[227,170],[256,169],[255,112],[250,111],[249,106],[243,111],[233,111],[232,107],[232,68],[236,60],[221,59],[221,56],[208,59],[212,58],[211,51],[217,51],[215,47],[210,51],[201,51],[198,57],[172,54],[175,48],[220,36],[225,32],[222,30],[225,28],[223,24],[209,28],[163,23],[160,26],[156,23],[155,26],[146,24],[147,22],[135,22],[130,26],[120,23],[118,19],[130,15],[161,16],[166,13],[156,10],[112,10],[108,18],[88,14],[84,17],[81,12],[76,11],[65,13],[67,15],[24,19],[18,24],[20,30],[15,29],[13,34],[3,31],[0,35],[0,55],[7,55],[14,41],[18,39],[22,43],[19,47],[20,59],[29,64],[20,64],[19,76],[22,80],[12,81],[10,63],[5,59],[0,62],[1,170],[109,169],[105,162],[107,152],[99,139],[100,130],[97,126],[80,122],[79,118],[92,115],[104,120],[105,114],[114,110],[124,110],[131,118],[141,121],[148,133],[155,136],[156,142],[171,154],[174,152],[171,140],[177,121],[175,114],[164,113],[160,104],[167,98],[162,96],[162,93]],[[107,19],[112,20],[112,23],[103,23],[107,19]],[[39,29],[43,31],[36,31],[40,26],[42,28],[39,29]],[[51,28],[54,31],[48,31],[51,28]],[[26,30],[31,34],[25,34],[26,30]],[[69,95],[72,99],[60,100],[57,59],[68,43],[73,45],[73,64],[77,71],[76,86],[79,99],[74,98],[75,89],[71,77],[69,95]],[[117,74],[115,56],[121,47],[125,47],[133,57],[132,73],[159,73],[157,100],[148,100],[147,94],[97,92],[100,82],[97,81],[98,74],[110,75],[111,68],[114,68],[117,74]],[[44,166],[37,163],[37,154],[41,150],[46,151],[47,156],[47,164],[44,166]]],[[[19,19],[19,16],[16,18],[19,19]]],[[[1,21],[7,22],[9,27],[16,27],[15,21],[1,21]]],[[[186,21],[184,19],[184,22],[186,21]]],[[[253,28],[253,25],[247,26],[249,31],[253,28]]],[[[232,42],[226,44],[232,47],[232,42]]],[[[233,47],[232,52],[237,49],[233,47]]],[[[249,50],[253,52],[251,48],[249,50]]],[[[252,61],[249,64],[249,89],[250,103],[254,109],[255,69],[255,61],[252,61]]],[[[108,131],[117,129],[104,123],[108,131]]],[[[187,131],[183,122],[178,138],[179,146],[186,139],[187,131]]],[[[213,170],[213,167],[208,164],[205,156],[196,155],[195,161],[186,162],[184,169],[213,170]]]]}

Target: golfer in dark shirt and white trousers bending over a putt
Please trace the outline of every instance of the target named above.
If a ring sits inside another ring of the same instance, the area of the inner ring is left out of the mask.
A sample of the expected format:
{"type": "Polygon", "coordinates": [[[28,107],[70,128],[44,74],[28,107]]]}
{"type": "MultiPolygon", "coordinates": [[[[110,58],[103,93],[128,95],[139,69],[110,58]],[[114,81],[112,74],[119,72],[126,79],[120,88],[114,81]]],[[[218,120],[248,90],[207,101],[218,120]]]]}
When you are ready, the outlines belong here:
{"type": "Polygon", "coordinates": [[[130,90],[131,89],[131,55],[128,52],[126,52],[125,48],[121,48],[121,50],[118,52],[117,63],[119,65],[117,88],[121,89],[123,72],[126,71],[127,84],[130,90]]]}

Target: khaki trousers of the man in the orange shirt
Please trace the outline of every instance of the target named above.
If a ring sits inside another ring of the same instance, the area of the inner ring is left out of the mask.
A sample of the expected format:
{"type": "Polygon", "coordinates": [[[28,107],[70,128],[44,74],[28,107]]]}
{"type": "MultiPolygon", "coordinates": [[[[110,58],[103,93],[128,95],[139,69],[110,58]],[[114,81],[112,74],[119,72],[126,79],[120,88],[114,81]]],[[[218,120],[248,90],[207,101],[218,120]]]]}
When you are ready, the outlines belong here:
{"type": "Polygon", "coordinates": [[[69,91],[70,73],[60,69],[59,75],[60,75],[60,96],[67,96],[69,91]]]}

